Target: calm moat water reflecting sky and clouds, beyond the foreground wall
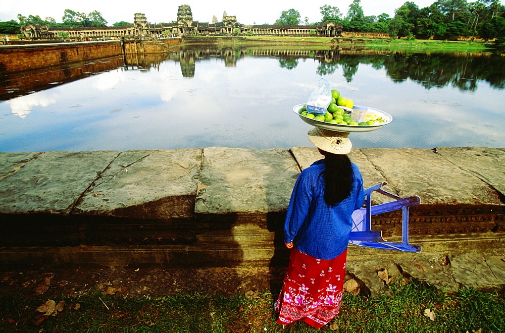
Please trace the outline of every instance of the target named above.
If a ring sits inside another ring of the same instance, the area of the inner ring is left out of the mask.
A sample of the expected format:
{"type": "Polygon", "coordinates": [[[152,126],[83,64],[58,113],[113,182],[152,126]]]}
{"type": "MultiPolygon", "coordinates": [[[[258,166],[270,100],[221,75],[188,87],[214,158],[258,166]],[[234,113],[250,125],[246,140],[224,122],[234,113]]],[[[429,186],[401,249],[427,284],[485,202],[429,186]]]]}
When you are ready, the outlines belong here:
{"type": "Polygon", "coordinates": [[[0,73],[0,151],[313,146],[292,107],[321,77],[393,117],[354,147],[505,147],[505,57],[200,45],[0,73]]]}

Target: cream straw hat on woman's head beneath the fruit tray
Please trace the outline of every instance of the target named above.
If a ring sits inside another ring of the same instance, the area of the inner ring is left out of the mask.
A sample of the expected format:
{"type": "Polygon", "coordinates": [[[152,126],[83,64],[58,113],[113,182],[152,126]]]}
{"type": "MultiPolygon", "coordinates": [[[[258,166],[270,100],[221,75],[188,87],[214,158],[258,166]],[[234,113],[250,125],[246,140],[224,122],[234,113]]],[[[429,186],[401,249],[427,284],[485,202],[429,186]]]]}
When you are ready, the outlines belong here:
{"type": "Polygon", "coordinates": [[[314,127],[307,132],[307,135],[316,147],[333,154],[348,154],[352,147],[347,132],[336,132],[314,127]]]}

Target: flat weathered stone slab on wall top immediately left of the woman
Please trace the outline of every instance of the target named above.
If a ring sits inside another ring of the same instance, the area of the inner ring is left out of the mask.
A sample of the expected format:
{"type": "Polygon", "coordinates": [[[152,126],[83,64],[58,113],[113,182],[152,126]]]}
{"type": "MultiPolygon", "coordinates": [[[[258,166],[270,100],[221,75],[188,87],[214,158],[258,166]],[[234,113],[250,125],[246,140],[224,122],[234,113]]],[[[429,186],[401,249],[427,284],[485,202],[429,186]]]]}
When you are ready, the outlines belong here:
{"type": "Polygon", "coordinates": [[[205,148],[195,212],[283,211],[298,173],[286,149],[205,148]]]}

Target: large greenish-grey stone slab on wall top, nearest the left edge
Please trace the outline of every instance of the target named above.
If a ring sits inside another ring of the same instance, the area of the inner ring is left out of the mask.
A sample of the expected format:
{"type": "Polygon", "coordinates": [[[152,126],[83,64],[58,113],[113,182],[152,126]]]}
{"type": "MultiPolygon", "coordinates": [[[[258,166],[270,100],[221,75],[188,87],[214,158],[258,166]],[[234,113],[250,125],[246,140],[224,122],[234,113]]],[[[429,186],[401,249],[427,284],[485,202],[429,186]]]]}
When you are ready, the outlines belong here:
{"type": "Polygon", "coordinates": [[[46,152],[0,182],[0,212],[68,214],[119,151],[46,152]]]}

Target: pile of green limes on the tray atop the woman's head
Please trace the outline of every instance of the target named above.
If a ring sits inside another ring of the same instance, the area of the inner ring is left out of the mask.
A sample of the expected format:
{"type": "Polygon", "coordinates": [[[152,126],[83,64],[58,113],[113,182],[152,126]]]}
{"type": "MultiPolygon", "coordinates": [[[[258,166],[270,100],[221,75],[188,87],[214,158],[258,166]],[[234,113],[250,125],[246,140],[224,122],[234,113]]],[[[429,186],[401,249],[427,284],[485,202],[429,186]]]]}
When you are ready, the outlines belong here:
{"type": "Polygon", "coordinates": [[[306,106],[301,107],[298,113],[307,118],[319,120],[321,122],[327,122],[331,124],[339,125],[360,125],[360,126],[373,126],[375,123],[373,121],[367,121],[362,123],[353,122],[350,113],[346,113],[345,109],[341,106],[352,108],[354,102],[343,96],[340,96],[340,92],[336,89],[331,90],[331,103],[328,105],[326,113],[323,114],[313,114],[307,111],[306,106]]]}

